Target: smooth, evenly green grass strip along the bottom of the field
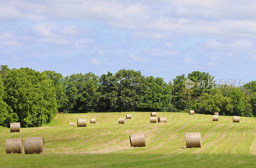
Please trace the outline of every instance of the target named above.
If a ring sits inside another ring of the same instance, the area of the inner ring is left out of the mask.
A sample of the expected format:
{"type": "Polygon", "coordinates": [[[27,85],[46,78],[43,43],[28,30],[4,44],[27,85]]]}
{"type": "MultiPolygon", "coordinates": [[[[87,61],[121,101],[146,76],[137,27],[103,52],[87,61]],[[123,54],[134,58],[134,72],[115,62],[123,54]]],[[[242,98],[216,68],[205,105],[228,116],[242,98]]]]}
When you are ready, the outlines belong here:
{"type": "MultiPolygon", "coordinates": [[[[1,155],[0,155],[1,156],[1,155]]],[[[0,157],[1,167],[256,167],[252,155],[160,155],[160,154],[13,154],[0,157]]]]}

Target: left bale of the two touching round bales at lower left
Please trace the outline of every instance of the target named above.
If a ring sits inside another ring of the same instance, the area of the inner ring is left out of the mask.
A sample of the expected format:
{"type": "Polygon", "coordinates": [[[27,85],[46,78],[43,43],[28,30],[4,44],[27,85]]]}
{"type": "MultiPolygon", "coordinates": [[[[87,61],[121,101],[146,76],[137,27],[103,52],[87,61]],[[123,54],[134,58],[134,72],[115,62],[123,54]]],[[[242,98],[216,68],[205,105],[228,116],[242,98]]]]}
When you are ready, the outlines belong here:
{"type": "Polygon", "coordinates": [[[5,140],[5,152],[9,153],[23,153],[22,138],[12,138],[5,140]]]}

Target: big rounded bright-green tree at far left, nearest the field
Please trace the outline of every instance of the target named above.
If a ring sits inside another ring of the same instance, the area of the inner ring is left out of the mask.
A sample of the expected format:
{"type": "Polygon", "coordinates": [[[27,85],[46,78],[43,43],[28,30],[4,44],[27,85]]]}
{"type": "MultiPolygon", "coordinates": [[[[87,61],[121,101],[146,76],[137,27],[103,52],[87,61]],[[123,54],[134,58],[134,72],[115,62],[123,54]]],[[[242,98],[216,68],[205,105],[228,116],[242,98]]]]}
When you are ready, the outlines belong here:
{"type": "Polygon", "coordinates": [[[12,69],[4,79],[4,101],[23,127],[41,126],[57,113],[52,80],[45,73],[29,68],[12,69]]]}

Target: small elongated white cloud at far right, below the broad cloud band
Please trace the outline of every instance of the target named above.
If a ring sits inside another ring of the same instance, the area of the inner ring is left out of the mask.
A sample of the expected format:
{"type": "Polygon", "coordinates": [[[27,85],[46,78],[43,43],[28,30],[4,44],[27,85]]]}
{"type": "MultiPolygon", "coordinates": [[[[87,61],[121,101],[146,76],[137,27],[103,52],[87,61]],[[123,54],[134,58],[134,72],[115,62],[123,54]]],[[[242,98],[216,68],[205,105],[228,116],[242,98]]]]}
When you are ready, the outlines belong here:
{"type": "Polygon", "coordinates": [[[214,48],[214,49],[241,49],[241,48],[251,48],[252,42],[249,40],[238,40],[233,43],[223,43],[216,40],[207,41],[204,44],[206,48],[214,48]]]}

